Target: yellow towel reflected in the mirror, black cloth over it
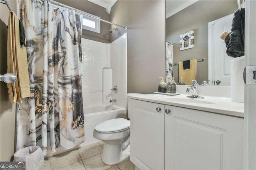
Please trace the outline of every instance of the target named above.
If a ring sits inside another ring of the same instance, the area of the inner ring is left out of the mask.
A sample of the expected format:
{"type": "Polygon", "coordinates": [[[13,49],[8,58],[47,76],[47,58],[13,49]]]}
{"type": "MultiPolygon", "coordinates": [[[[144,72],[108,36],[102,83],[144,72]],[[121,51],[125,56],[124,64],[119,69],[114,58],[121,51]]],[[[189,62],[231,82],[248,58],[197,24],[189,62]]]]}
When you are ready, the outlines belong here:
{"type": "Polygon", "coordinates": [[[182,81],[186,85],[191,85],[192,80],[196,80],[196,71],[197,71],[197,62],[196,59],[190,60],[190,69],[184,70],[182,61],[179,62],[179,77],[182,77],[182,81]]]}

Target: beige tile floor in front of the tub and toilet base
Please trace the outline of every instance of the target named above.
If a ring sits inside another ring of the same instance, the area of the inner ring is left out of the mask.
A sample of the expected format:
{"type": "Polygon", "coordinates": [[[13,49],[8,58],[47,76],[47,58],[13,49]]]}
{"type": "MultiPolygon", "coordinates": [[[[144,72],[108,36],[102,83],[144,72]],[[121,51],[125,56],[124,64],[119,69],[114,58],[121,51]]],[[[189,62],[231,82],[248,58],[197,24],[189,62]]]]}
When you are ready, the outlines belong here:
{"type": "Polygon", "coordinates": [[[104,142],[97,142],[44,159],[40,170],[135,170],[130,158],[116,165],[102,162],[104,142]]]}

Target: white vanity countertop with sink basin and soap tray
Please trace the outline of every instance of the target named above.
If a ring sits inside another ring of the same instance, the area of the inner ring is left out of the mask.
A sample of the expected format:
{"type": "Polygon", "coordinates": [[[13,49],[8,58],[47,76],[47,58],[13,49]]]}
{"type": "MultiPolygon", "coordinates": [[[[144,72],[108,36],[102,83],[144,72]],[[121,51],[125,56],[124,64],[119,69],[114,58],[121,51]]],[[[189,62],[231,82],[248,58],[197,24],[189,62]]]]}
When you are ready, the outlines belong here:
{"type": "MultiPolygon", "coordinates": [[[[204,99],[191,99],[200,100],[204,103],[190,103],[180,102],[179,99],[188,99],[187,95],[180,94],[176,96],[160,95],[160,94],[127,94],[129,99],[137,99],[142,101],[148,101],[153,103],[160,103],[164,105],[172,105],[177,107],[184,107],[189,109],[195,109],[200,111],[208,111],[211,113],[217,113],[222,115],[234,116],[244,118],[244,103],[235,103],[230,98],[224,97],[211,97],[204,96],[204,99]]],[[[197,102],[197,101],[196,101],[197,102]]]]}

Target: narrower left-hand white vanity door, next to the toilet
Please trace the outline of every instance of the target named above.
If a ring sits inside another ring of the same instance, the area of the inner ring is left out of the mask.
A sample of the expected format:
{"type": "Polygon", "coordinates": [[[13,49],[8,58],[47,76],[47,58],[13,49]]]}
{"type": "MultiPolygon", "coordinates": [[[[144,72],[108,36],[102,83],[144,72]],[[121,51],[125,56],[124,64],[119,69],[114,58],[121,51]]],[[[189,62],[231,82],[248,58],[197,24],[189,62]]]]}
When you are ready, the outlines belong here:
{"type": "Polygon", "coordinates": [[[164,105],[130,99],[130,109],[130,160],[141,170],[163,170],[164,105]]]}

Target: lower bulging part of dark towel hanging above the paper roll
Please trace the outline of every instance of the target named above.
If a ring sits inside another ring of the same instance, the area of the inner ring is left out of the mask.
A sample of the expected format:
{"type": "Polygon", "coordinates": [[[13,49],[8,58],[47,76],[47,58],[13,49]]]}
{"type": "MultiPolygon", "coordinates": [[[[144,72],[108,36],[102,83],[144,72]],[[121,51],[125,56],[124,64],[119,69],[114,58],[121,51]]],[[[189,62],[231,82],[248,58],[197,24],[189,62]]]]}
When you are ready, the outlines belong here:
{"type": "Polygon", "coordinates": [[[244,45],[241,40],[240,31],[234,30],[228,34],[225,38],[226,53],[231,57],[242,57],[244,56],[244,45]]]}

